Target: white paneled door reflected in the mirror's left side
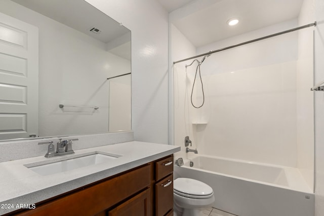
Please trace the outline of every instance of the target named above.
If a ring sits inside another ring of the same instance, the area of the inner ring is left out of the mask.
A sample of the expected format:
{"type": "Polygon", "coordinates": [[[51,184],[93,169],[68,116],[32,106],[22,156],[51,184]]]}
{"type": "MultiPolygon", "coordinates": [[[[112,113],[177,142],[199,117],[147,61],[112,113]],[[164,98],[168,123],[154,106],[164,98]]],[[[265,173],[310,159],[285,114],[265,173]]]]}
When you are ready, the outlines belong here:
{"type": "Polygon", "coordinates": [[[38,28],[0,13],[0,140],[38,136],[38,28]]]}

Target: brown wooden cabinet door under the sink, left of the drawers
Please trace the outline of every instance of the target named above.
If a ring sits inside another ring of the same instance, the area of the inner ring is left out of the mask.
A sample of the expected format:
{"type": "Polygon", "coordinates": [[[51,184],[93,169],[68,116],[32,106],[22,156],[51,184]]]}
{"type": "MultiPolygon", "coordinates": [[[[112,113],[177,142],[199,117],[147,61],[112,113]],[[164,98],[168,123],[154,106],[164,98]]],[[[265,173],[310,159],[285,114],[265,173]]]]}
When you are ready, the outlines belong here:
{"type": "Polygon", "coordinates": [[[148,216],[150,212],[150,189],[143,191],[108,212],[109,216],[148,216]]]}

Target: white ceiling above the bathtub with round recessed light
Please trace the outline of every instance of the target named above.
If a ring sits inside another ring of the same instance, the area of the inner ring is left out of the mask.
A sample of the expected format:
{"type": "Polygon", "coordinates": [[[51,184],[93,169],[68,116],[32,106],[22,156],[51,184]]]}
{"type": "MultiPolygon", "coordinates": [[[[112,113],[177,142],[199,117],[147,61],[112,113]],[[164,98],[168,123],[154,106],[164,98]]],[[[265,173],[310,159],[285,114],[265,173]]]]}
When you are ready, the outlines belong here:
{"type": "MultiPolygon", "coordinates": [[[[184,14],[186,9],[192,10],[194,3],[203,4],[201,0],[157,1],[173,15],[184,14]],[[179,8],[181,10],[177,10],[179,8]]],[[[210,2],[214,3],[189,15],[178,16],[181,18],[172,22],[195,47],[295,19],[299,16],[303,0],[210,0],[210,2]],[[238,18],[239,23],[236,26],[228,26],[227,21],[231,18],[238,18]]]]}

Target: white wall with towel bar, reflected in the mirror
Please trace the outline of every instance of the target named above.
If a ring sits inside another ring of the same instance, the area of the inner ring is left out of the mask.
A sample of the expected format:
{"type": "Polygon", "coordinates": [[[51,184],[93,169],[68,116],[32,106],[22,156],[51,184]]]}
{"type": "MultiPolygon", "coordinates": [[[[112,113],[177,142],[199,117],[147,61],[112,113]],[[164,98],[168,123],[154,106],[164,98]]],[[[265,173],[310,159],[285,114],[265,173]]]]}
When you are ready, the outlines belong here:
{"type": "Polygon", "coordinates": [[[57,21],[11,1],[1,4],[4,13],[39,29],[38,135],[107,132],[109,85],[106,78],[129,73],[131,62],[106,52],[103,42],[57,21]],[[98,106],[99,109],[60,109],[59,104],[98,106]]]}

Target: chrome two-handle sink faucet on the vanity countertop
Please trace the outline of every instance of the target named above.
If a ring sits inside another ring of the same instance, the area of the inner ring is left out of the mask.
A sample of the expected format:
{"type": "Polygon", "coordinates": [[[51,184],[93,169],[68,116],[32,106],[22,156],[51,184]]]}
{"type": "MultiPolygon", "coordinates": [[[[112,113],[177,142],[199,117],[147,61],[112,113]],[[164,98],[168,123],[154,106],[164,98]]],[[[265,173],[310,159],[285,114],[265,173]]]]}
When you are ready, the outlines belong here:
{"type": "Polygon", "coordinates": [[[74,151],[72,150],[72,143],[73,143],[72,141],[74,140],[78,140],[78,139],[63,140],[63,141],[62,139],[59,139],[59,142],[57,142],[56,144],[56,151],[55,151],[55,146],[53,145],[53,141],[41,142],[38,143],[38,145],[50,144],[45,157],[55,157],[60,155],[73,154],[74,151]]]}

